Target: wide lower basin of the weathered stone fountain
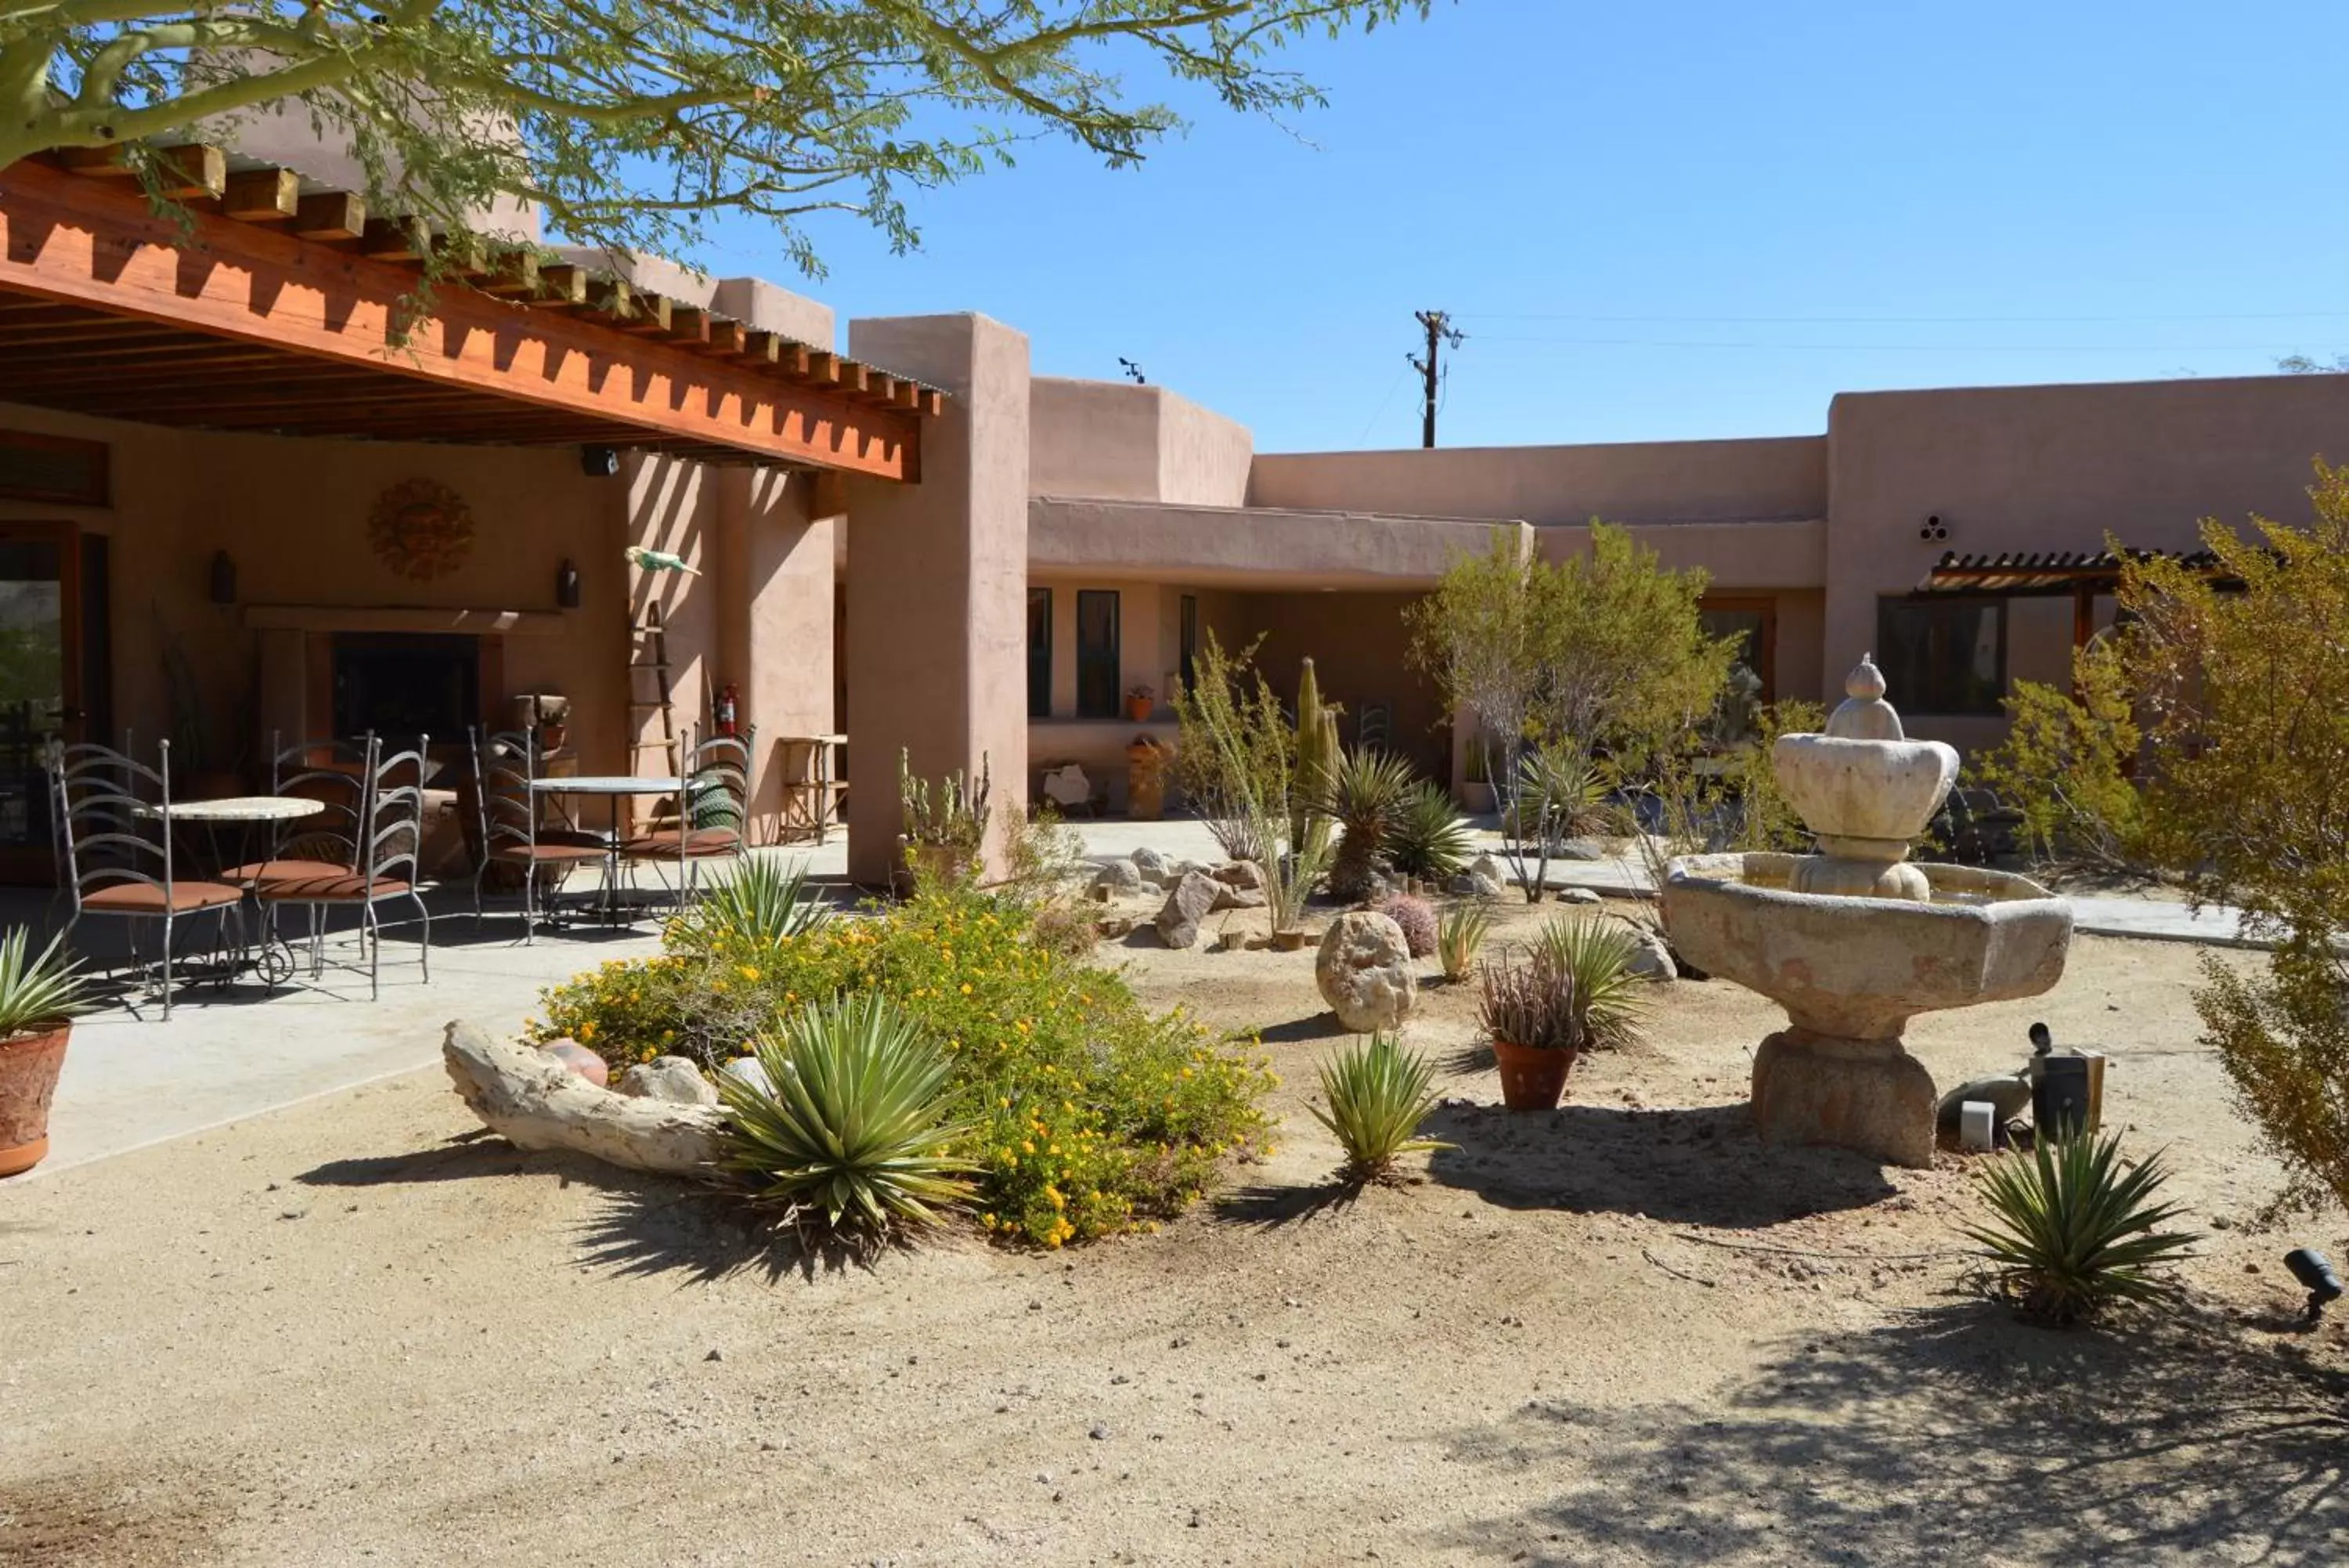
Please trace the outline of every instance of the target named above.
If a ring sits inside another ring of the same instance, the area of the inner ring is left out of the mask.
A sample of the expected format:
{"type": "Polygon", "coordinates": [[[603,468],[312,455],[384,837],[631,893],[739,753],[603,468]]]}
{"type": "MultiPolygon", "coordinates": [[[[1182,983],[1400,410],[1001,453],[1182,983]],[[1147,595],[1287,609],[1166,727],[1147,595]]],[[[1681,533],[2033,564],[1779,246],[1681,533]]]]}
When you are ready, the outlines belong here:
{"type": "Polygon", "coordinates": [[[2037,997],[2062,978],[2072,905],[2030,877],[1914,865],[1926,900],[1797,893],[1811,856],[1665,865],[1663,924],[1698,969],[1757,990],[1797,1030],[1898,1041],[1917,1013],[2037,997]]]}

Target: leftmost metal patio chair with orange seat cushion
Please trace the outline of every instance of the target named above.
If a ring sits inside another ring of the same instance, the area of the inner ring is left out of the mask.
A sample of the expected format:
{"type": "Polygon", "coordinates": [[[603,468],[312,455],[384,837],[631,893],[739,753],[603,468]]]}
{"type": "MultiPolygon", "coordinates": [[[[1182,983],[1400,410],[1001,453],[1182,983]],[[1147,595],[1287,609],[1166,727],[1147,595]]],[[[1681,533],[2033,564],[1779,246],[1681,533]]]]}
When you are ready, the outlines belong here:
{"type": "Polygon", "coordinates": [[[127,919],[136,969],[136,922],[157,922],[162,1018],[171,1023],[174,924],[211,912],[216,936],[226,938],[228,922],[237,922],[237,945],[244,945],[244,889],[181,877],[171,858],[171,743],[157,745],[155,766],[108,745],[61,745],[49,757],[49,792],[56,811],[56,882],[73,898],[66,933],[85,914],[127,919]]]}

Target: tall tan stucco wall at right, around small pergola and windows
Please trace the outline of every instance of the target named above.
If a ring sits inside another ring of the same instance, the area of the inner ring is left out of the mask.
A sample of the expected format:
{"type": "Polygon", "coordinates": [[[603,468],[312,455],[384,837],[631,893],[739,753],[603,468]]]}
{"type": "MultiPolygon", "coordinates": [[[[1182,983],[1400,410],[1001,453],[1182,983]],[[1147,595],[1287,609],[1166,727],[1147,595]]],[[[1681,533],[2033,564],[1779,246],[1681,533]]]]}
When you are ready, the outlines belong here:
{"type": "MultiPolygon", "coordinates": [[[[2107,531],[2180,550],[2210,515],[2307,520],[2309,458],[2349,458],[2349,376],[1846,393],[1828,442],[1820,675],[1839,691],[1875,644],[1877,597],[1914,588],[1945,550],[2095,550],[2107,531]],[[1929,515],[1947,541],[1917,536],[1929,515]]],[[[2067,599],[2008,604],[2008,679],[2065,679],[2069,646],[2067,599]]],[[[2004,722],[1912,715],[1910,729],[1976,748],[2004,722]]]]}

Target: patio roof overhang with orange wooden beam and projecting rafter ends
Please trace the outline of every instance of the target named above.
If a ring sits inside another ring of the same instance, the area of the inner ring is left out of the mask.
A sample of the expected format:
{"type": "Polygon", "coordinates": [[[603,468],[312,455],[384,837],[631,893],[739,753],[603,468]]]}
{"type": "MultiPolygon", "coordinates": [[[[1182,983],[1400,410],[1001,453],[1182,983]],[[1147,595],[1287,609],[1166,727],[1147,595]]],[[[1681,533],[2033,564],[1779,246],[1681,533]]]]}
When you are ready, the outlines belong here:
{"type": "Polygon", "coordinates": [[[944,395],[698,306],[458,252],[291,169],[179,148],[190,221],[120,160],[0,169],[0,402],[207,430],[590,444],[881,480],[944,395]],[[439,247],[430,315],[402,341],[439,247]]]}

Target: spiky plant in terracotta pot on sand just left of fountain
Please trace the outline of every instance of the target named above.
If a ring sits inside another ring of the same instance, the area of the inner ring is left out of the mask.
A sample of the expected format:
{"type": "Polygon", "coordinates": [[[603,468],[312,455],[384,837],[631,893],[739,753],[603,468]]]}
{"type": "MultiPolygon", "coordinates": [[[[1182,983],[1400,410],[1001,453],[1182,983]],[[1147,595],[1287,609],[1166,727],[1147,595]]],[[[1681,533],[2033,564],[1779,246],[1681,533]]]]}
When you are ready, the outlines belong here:
{"type": "Polygon", "coordinates": [[[1478,1025],[1501,1067],[1501,1103],[1555,1110],[1574,1058],[1593,1046],[1637,1039],[1644,1016],[1630,971],[1640,943],[1630,926],[1555,919],[1525,961],[1478,966],[1478,1025]]]}

